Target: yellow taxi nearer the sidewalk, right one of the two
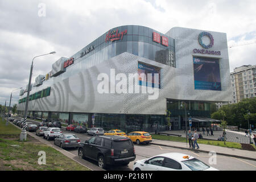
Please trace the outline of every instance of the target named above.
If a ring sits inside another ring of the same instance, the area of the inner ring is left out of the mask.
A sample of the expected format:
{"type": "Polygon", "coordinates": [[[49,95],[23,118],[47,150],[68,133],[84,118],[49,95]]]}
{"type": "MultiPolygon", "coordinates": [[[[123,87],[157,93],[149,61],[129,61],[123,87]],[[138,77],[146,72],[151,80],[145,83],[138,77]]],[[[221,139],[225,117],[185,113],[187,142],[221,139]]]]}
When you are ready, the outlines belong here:
{"type": "Polygon", "coordinates": [[[130,138],[133,142],[136,142],[137,144],[140,144],[140,143],[148,144],[152,142],[151,135],[145,131],[133,131],[127,134],[125,137],[130,138]]]}

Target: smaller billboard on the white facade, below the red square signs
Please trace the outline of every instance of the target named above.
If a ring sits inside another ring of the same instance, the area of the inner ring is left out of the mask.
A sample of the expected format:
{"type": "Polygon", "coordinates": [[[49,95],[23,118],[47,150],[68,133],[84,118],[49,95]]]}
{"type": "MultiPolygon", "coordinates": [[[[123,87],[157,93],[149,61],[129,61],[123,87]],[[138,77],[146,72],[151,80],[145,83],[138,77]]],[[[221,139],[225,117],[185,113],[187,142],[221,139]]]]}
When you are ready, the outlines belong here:
{"type": "Polygon", "coordinates": [[[160,89],[160,69],[161,68],[153,65],[138,63],[139,85],[160,89]],[[148,74],[151,75],[152,79],[148,77],[148,74]],[[155,78],[157,80],[155,80],[155,78]]]}

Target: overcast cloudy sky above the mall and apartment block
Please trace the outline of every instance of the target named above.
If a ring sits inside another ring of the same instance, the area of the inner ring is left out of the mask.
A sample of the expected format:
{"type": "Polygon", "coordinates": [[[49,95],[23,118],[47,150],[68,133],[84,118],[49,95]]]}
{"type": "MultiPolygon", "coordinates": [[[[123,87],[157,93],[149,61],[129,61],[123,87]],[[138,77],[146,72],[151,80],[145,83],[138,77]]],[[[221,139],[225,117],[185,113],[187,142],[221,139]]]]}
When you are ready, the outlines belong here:
{"type": "MultiPolygon", "coordinates": [[[[51,71],[61,56],[70,57],[111,28],[136,24],[166,33],[172,27],[226,32],[228,46],[256,40],[255,0],[76,0],[0,1],[0,104],[11,91],[51,71]],[[42,6],[43,5],[43,6],[42,6]],[[46,11],[44,12],[44,5],[46,11]],[[44,16],[45,13],[45,16],[44,16]]],[[[230,71],[255,64],[256,44],[229,48],[230,71]]],[[[17,104],[19,91],[13,92],[17,104]]]]}

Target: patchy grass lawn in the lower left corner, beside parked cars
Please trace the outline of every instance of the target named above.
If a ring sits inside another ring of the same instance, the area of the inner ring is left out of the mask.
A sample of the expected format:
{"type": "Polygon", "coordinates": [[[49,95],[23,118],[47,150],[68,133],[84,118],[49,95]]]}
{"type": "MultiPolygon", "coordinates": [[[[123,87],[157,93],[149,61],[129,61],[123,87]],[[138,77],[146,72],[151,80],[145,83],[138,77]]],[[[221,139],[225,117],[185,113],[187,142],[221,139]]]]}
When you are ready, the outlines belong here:
{"type": "Polygon", "coordinates": [[[88,168],[27,135],[27,142],[19,142],[20,130],[0,118],[0,171],[89,171],[88,168]],[[16,137],[14,137],[16,136],[16,137]],[[15,145],[15,146],[13,146],[15,145]],[[46,152],[46,165],[39,165],[39,151],[46,152]]]}

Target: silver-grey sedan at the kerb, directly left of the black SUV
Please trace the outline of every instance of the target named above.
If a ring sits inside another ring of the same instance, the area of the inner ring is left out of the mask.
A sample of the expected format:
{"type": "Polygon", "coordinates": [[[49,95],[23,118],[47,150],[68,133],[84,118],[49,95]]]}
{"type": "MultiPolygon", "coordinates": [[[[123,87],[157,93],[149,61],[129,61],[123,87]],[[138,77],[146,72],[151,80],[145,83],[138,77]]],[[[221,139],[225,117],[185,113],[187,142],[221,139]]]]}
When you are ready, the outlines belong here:
{"type": "Polygon", "coordinates": [[[61,148],[77,148],[79,147],[80,141],[75,134],[61,134],[60,137],[54,139],[54,144],[61,148]]]}

